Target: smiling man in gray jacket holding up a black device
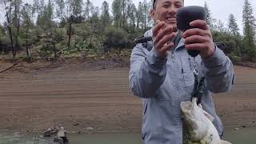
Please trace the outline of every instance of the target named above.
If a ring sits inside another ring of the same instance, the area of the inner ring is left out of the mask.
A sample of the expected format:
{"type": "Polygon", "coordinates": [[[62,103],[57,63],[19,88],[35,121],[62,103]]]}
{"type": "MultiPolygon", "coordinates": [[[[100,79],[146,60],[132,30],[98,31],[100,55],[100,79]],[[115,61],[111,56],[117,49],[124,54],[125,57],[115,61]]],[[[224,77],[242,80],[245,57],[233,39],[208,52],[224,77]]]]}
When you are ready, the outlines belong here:
{"type": "Polygon", "coordinates": [[[201,78],[206,78],[202,108],[214,117],[219,135],[223,133],[210,94],[230,90],[234,81],[233,65],[214,45],[210,29],[202,20],[191,22],[190,26],[198,28],[183,32],[174,46],[170,40],[176,35],[175,15],[182,6],[182,0],[154,0],[150,14],[156,23],[144,34],[153,36],[153,42],[138,43],[131,54],[130,89],[142,98],[142,141],[145,144],[182,144],[179,105],[190,101],[194,69],[201,78]],[[187,50],[200,51],[195,58],[196,67],[187,50]]]}

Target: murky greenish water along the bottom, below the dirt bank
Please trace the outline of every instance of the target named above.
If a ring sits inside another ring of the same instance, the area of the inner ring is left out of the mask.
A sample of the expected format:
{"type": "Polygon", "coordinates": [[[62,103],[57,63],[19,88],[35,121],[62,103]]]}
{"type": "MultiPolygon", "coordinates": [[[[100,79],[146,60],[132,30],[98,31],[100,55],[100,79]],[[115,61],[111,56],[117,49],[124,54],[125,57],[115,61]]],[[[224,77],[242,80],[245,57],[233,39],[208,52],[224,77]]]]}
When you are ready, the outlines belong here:
{"type": "MultiPolygon", "coordinates": [[[[256,143],[256,127],[225,129],[224,139],[233,144],[256,143]]],[[[50,138],[0,131],[0,144],[47,144],[50,138]]],[[[69,134],[70,144],[142,144],[140,133],[69,134]]]]}

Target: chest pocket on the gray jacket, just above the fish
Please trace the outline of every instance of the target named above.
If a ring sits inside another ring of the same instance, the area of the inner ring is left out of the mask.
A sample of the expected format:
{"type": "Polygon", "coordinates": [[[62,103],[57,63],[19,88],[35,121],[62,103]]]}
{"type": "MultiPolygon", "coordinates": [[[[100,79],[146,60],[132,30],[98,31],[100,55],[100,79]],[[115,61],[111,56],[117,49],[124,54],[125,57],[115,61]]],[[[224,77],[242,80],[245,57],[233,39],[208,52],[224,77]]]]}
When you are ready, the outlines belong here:
{"type": "Polygon", "coordinates": [[[181,57],[181,61],[182,61],[182,74],[183,74],[185,87],[193,86],[194,73],[193,73],[193,68],[191,66],[193,65],[193,62],[191,62],[191,59],[189,57],[181,57]]]}

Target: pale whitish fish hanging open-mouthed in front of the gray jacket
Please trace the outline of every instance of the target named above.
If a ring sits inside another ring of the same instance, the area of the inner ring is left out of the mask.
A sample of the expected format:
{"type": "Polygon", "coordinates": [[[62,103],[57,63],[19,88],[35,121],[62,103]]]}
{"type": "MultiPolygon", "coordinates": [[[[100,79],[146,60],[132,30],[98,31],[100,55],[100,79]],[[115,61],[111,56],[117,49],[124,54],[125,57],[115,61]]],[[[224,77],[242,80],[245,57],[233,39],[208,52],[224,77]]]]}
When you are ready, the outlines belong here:
{"type": "Polygon", "coordinates": [[[183,144],[231,144],[223,141],[215,128],[214,117],[202,110],[197,98],[181,102],[183,144]]]}

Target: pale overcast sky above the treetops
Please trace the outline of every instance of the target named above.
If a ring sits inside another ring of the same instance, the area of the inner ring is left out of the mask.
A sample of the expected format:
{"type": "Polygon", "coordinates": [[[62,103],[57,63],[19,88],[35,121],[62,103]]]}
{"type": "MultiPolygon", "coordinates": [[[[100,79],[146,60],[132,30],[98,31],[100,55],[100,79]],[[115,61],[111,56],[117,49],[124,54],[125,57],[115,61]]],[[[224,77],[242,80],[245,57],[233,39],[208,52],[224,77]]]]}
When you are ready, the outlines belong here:
{"type": "MultiPolygon", "coordinates": [[[[85,0],[84,0],[85,1],[85,0]]],[[[94,6],[102,6],[104,0],[90,0],[94,3],[94,6]]],[[[138,6],[138,2],[143,0],[133,0],[135,5],[138,6]]],[[[249,0],[254,8],[254,17],[256,18],[256,0],[249,0]]],[[[23,0],[23,2],[33,2],[33,0],[23,0]]],[[[106,0],[110,4],[110,9],[113,0],[106,0]]],[[[213,18],[220,19],[222,22],[228,22],[229,14],[234,14],[237,19],[240,31],[242,31],[242,6],[244,0],[185,0],[185,6],[203,6],[204,2],[207,2],[213,18]]],[[[2,7],[0,7],[2,9],[2,7]]],[[[0,10],[0,22],[3,18],[2,10],[0,10]]]]}

